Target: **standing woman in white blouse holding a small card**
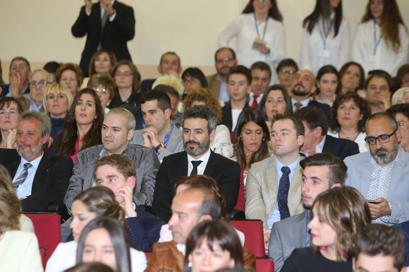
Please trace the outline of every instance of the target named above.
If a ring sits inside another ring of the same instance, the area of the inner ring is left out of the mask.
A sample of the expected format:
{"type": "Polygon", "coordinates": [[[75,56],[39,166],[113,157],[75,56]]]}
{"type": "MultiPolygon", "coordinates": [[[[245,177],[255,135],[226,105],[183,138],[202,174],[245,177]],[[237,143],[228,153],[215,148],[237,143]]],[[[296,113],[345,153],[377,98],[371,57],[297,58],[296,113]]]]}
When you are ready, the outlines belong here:
{"type": "Polygon", "coordinates": [[[249,0],[241,15],[219,36],[219,48],[227,47],[236,37],[237,59],[250,67],[254,62],[266,62],[276,82],[275,65],[285,57],[283,16],[276,0],[249,0]]]}

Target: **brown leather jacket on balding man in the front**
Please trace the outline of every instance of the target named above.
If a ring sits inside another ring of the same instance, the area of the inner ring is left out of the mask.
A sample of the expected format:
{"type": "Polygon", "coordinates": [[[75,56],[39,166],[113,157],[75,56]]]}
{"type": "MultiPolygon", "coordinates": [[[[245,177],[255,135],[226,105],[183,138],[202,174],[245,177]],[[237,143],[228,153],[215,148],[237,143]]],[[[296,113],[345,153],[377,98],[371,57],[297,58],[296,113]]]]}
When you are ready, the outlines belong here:
{"type": "MultiPolygon", "coordinates": [[[[248,248],[243,248],[243,261],[245,269],[256,271],[256,257],[248,248]]],[[[153,244],[145,272],[155,271],[184,271],[184,256],[174,241],[153,244]]]]}

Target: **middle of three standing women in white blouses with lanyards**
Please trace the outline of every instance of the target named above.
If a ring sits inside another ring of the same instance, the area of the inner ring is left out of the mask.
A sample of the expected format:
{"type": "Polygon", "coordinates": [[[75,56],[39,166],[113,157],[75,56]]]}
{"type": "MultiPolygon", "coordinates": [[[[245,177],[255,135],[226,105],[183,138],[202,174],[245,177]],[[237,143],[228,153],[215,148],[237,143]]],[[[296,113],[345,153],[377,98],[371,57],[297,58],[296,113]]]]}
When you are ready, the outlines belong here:
{"type": "Polygon", "coordinates": [[[303,21],[300,67],[317,74],[320,67],[337,69],[350,59],[349,24],[342,16],[341,0],[317,0],[303,21]]]}

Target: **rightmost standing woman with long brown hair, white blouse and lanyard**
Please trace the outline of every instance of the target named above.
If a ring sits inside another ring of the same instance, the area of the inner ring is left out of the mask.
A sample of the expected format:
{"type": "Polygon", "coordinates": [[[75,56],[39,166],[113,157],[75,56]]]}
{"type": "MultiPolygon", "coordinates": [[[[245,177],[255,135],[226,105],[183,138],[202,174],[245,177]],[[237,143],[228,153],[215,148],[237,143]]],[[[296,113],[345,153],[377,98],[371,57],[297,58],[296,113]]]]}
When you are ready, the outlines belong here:
{"type": "Polygon", "coordinates": [[[396,0],[368,0],[353,44],[352,58],[366,73],[375,69],[392,77],[408,59],[409,37],[396,0]]]}

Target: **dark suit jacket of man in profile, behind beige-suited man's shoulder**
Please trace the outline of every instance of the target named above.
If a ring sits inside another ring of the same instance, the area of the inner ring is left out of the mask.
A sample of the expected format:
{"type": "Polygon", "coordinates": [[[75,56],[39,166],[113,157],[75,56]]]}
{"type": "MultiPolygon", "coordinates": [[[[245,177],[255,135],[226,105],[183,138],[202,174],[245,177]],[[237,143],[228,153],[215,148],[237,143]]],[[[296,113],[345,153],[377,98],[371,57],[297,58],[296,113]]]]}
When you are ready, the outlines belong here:
{"type": "MultiPolygon", "coordinates": [[[[329,152],[335,157],[344,160],[346,157],[358,154],[359,146],[351,140],[326,135],[324,146],[322,147],[322,153],[324,152],[329,152]]],[[[300,155],[305,157],[305,154],[301,152],[300,155]]]]}

